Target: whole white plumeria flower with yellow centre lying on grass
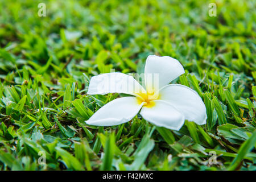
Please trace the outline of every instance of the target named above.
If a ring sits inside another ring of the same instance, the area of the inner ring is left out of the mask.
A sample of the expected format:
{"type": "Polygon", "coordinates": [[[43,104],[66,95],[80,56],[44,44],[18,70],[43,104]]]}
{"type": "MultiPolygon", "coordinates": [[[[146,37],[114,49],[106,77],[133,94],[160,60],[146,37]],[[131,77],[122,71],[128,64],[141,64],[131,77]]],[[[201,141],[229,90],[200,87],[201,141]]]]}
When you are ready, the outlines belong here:
{"type": "Polygon", "coordinates": [[[125,93],[131,96],[108,102],[85,122],[95,126],[120,125],[140,113],[146,121],[172,130],[179,130],[185,119],[205,124],[206,108],[199,94],[184,85],[169,85],[184,72],[176,59],[150,55],[144,68],[145,88],[133,76],[124,73],[93,76],[88,94],[125,93]]]}

